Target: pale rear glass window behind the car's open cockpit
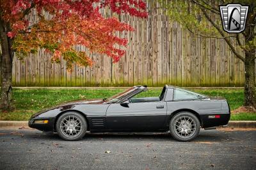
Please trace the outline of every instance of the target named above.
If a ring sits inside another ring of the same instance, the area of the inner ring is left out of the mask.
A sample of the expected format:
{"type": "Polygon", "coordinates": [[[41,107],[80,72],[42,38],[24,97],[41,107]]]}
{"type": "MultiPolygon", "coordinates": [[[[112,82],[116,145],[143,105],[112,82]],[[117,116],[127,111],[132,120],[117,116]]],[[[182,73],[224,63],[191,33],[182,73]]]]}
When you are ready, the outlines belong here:
{"type": "Polygon", "coordinates": [[[184,89],[175,89],[173,100],[193,100],[193,99],[198,99],[202,97],[204,96],[193,93],[191,91],[186,91],[184,89]]]}

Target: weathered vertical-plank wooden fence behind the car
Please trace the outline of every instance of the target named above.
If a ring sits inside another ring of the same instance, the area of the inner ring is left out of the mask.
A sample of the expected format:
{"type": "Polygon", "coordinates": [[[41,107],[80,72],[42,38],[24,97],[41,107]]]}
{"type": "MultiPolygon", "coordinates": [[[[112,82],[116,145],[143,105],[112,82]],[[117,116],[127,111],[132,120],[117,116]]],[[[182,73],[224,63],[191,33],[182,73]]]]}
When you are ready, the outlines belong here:
{"type": "MultiPolygon", "coordinates": [[[[170,22],[156,1],[148,0],[147,6],[148,19],[118,16],[135,29],[118,33],[129,40],[118,63],[90,54],[95,61],[92,67],[74,64],[74,71],[67,72],[64,60],[51,63],[51,56],[40,50],[24,61],[14,59],[13,86],[243,86],[243,62],[234,57],[224,40],[193,36],[170,22]]],[[[107,9],[103,13],[111,16],[107,9]]],[[[36,20],[36,15],[31,20],[36,20]]]]}

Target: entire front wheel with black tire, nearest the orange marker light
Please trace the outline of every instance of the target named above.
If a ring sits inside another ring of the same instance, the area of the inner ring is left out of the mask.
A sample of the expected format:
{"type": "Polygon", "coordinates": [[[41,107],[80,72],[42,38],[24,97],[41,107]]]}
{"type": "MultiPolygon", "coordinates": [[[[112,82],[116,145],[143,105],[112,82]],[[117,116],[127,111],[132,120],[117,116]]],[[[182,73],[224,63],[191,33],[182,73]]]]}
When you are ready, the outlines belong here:
{"type": "Polygon", "coordinates": [[[84,117],[77,112],[65,112],[56,122],[58,135],[66,141],[78,141],[87,131],[84,117]]]}

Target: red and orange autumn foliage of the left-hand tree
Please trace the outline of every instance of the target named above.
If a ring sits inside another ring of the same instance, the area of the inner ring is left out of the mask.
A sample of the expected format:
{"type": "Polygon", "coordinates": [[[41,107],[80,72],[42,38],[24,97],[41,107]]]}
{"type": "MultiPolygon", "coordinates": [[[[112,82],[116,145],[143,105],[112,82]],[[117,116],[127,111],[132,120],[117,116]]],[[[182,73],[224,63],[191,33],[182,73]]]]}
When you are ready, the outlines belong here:
{"type": "Polygon", "coordinates": [[[28,56],[30,52],[45,49],[52,54],[52,61],[60,57],[72,63],[92,65],[93,61],[84,51],[74,49],[82,45],[89,52],[106,54],[118,62],[125,54],[127,40],[116,36],[118,31],[133,31],[126,23],[115,17],[104,18],[102,8],[115,13],[127,13],[136,17],[147,17],[146,4],[142,0],[0,0],[1,19],[10,26],[8,37],[13,39],[12,49],[17,55],[28,56]],[[35,23],[29,16],[38,15],[35,23]],[[50,17],[45,17],[45,13],[50,17]]]}

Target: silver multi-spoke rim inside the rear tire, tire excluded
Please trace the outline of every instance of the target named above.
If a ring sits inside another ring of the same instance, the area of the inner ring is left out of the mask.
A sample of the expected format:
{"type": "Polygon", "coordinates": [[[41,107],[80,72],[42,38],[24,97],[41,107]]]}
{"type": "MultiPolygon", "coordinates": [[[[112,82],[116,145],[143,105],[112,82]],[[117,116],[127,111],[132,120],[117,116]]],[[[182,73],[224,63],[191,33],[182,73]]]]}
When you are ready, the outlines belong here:
{"type": "Polygon", "coordinates": [[[174,123],[174,132],[181,138],[189,138],[196,132],[196,123],[190,116],[180,116],[174,123]]]}

